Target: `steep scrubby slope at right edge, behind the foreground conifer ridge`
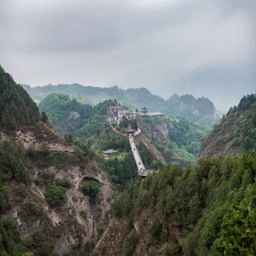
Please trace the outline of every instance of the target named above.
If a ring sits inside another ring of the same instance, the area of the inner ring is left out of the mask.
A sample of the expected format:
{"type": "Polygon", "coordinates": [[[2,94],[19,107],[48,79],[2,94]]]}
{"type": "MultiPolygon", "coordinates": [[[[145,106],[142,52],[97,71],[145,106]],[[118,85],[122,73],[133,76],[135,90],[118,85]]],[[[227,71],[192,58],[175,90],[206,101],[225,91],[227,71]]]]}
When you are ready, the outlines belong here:
{"type": "Polygon", "coordinates": [[[202,143],[198,159],[256,150],[256,95],[244,96],[202,143]]]}

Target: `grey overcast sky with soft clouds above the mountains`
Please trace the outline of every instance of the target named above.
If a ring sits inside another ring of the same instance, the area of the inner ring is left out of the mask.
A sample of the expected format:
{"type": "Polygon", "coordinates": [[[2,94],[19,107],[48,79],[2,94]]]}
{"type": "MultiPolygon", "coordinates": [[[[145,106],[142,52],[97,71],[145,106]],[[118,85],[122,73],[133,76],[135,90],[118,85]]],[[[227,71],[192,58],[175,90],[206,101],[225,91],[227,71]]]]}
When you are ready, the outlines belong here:
{"type": "Polygon", "coordinates": [[[154,93],[214,60],[255,58],[255,0],[0,0],[0,63],[17,83],[154,93]]]}

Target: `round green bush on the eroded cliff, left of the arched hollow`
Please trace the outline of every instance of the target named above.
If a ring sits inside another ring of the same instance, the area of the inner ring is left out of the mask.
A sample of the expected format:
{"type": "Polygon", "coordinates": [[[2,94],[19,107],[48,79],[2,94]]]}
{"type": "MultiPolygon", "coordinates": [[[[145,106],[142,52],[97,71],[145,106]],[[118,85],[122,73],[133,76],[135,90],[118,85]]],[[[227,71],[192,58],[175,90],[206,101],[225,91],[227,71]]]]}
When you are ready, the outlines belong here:
{"type": "Polygon", "coordinates": [[[47,204],[49,204],[51,207],[60,206],[67,198],[65,191],[66,189],[63,187],[50,186],[44,194],[47,204]]]}

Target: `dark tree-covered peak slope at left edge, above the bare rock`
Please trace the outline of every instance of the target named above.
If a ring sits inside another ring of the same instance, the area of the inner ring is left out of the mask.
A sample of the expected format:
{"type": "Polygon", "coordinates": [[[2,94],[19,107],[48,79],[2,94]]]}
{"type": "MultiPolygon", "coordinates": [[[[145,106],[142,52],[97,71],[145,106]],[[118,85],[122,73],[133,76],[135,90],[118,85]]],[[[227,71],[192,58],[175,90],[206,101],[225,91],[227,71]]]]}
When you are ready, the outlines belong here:
{"type": "Polygon", "coordinates": [[[0,129],[10,131],[20,122],[31,124],[38,120],[35,102],[0,66],[0,129]]]}

